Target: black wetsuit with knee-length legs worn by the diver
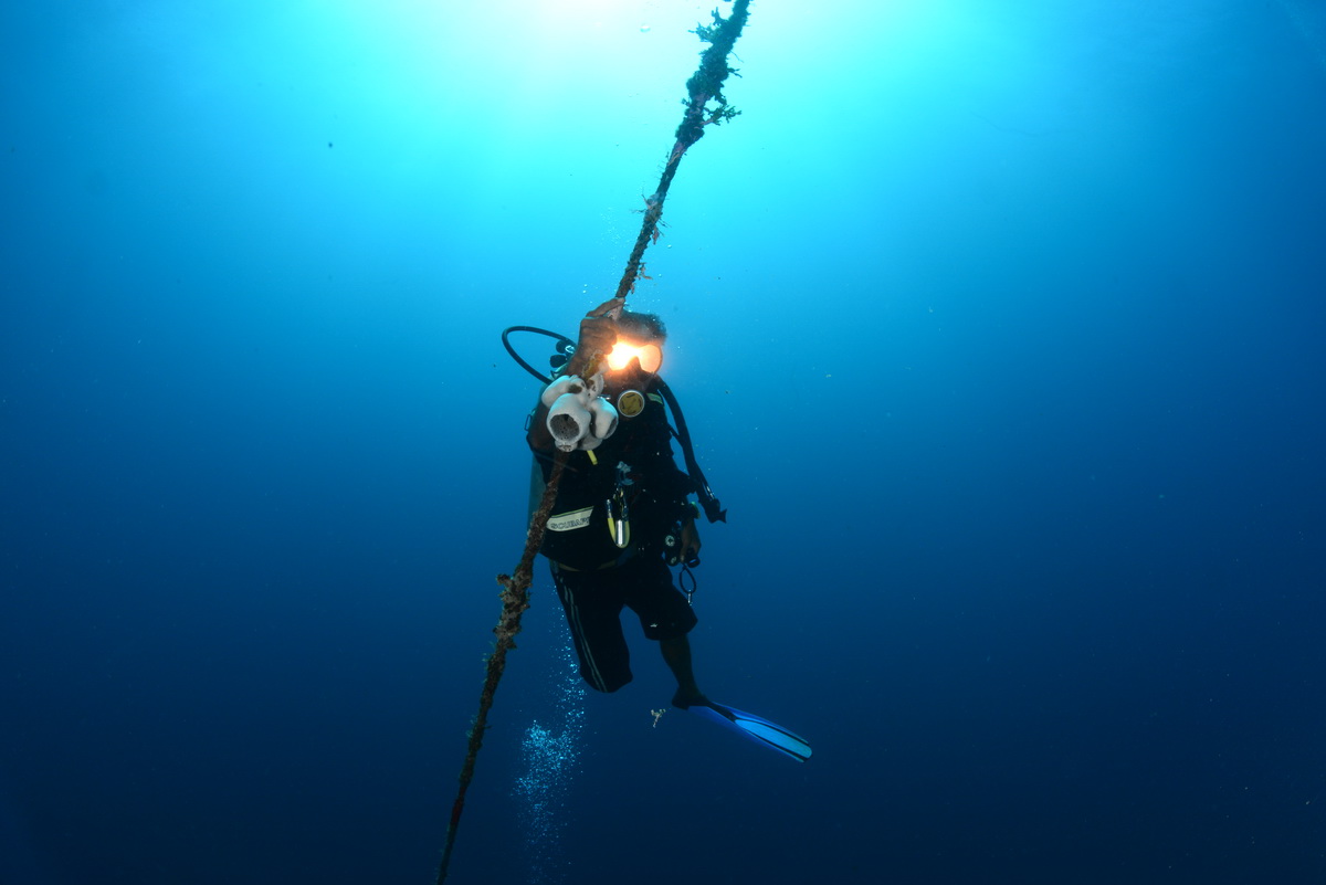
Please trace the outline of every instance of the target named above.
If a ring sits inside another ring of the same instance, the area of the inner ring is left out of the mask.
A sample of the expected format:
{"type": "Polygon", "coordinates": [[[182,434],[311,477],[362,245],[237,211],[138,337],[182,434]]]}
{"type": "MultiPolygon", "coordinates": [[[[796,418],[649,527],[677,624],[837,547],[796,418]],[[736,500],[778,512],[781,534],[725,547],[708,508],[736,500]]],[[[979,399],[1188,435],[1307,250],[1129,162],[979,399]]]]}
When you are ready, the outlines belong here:
{"type": "MultiPolygon", "coordinates": [[[[672,460],[663,397],[652,384],[643,392],[646,405],[639,415],[623,416],[597,449],[568,458],[540,548],[553,564],[581,676],[599,692],[615,692],[631,681],[623,605],[639,616],[652,640],[684,636],[696,623],[664,559],[664,538],[691,513],[692,482],[672,460]],[[618,488],[630,523],[625,548],[609,529],[609,501],[618,488]]],[[[611,388],[607,396],[617,399],[611,388]]],[[[546,482],[552,450],[536,449],[534,454],[546,482]]]]}

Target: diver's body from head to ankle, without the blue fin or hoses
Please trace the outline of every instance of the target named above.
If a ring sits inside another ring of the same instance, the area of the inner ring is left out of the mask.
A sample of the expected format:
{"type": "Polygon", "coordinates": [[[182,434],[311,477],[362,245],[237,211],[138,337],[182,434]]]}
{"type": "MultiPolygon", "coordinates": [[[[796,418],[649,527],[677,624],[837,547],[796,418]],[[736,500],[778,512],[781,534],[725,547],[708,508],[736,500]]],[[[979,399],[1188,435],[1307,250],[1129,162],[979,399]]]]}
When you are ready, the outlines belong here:
{"type": "MultiPolygon", "coordinates": [[[[658,392],[666,337],[652,314],[623,311],[617,322],[589,317],[581,323],[577,348],[607,355],[602,396],[614,404],[618,427],[568,461],[540,552],[552,563],[585,681],[599,692],[631,681],[621,623],[625,605],[639,616],[644,635],[658,641],[676,677],[672,703],[686,709],[705,700],[686,636],[696,616],[672,584],[666,555],[675,525],[680,533],[671,541],[680,545],[683,562],[699,554],[700,535],[696,509],[687,499],[693,486],[672,460],[658,392]]],[[[550,399],[540,399],[526,436],[545,482],[554,449],[548,419],[556,400],[544,401],[550,399]]]]}

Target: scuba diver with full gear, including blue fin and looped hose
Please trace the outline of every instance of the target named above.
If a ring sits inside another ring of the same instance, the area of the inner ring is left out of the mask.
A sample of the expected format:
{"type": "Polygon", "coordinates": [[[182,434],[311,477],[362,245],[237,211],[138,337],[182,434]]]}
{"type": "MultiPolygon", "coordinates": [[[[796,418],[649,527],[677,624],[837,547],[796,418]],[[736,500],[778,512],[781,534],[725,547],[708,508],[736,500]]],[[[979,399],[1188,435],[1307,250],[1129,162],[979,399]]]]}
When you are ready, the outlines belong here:
{"type": "MultiPolygon", "coordinates": [[[[528,326],[507,331],[513,330],[560,338],[528,326]]],[[[605,359],[601,374],[589,380],[554,372],[530,415],[526,441],[536,460],[534,505],[552,474],[554,450],[569,453],[540,552],[550,563],[579,672],[591,688],[615,692],[631,681],[621,621],[622,608],[630,608],[676,677],[674,706],[804,762],[810,756],[805,738],[709,701],[695,678],[687,639],[697,621],[690,574],[699,566],[695,521],[703,511],[711,522],[725,522],[727,511],[696,464],[686,419],[659,376],[666,339],[659,317],[622,310],[617,319],[586,317],[578,344],[560,340],[554,368],[564,371],[570,354],[581,348],[605,359]],[[674,435],[687,470],[674,460],[674,435]],[[690,499],[692,494],[699,503],[690,499]],[[683,587],[690,580],[686,594],[674,584],[674,566],[682,568],[683,587]]],[[[516,354],[507,333],[503,343],[521,366],[549,380],[516,354]]]]}

